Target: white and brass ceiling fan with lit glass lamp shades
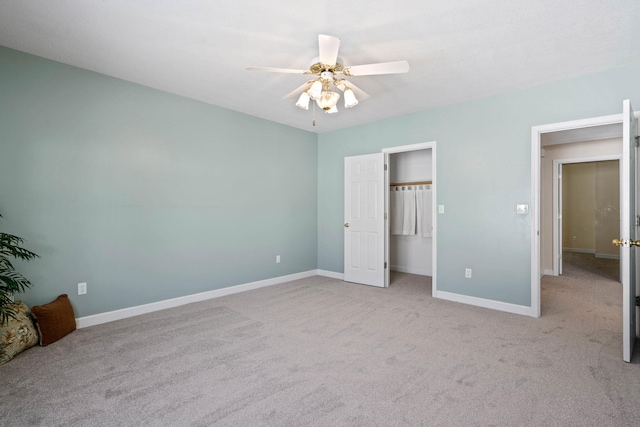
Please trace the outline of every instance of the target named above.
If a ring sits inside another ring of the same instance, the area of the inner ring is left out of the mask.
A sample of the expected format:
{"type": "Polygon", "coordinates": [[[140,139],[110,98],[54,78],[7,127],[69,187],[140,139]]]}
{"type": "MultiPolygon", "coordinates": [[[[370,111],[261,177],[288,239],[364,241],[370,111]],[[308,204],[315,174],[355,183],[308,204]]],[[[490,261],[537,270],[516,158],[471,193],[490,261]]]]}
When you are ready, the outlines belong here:
{"type": "Polygon", "coordinates": [[[344,93],[345,108],[355,107],[358,105],[358,99],[362,101],[369,97],[366,92],[353,83],[348,82],[343,76],[358,77],[377,74],[398,74],[409,71],[409,63],[407,61],[380,62],[377,64],[345,67],[342,58],[338,57],[338,49],[340,48],[339,38],[320,34],[318,36],[318,44],[320,47],[320,56],[311,62],[308,70],[270,67],[247,67],[247,70],[316,76],[313,80],[306,82],[286,95],[285,99],[299,96],[296,106],[303,110],[309,109],[310,100],[316,101],[318,106],[327,114],[338,112],[336,105],[340,99],[340,94],[331,90],[331,85],[344,93]]]}

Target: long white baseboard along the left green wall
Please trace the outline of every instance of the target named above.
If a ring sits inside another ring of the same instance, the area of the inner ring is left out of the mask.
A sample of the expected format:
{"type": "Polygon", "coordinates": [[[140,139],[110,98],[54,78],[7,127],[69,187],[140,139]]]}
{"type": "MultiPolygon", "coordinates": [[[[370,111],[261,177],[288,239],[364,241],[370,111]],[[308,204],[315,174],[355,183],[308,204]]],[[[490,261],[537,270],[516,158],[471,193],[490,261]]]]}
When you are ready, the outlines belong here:
{"type": "Polygon", "coordinates": [[[250,291],[252,289],[264,288],[266,286],[278,285],[280,283],[291,282],[292,280],[304,279],[306,277],[321,274],[319,270],[310,270],[302,273],[290,274],[288,276],[274,277],[273,279],[259,280],[257,282],[245,283],[242,285],[229,286],[227,288],[215,289],[213,291],[200,292],[193,295],[172,298],[168,300],[152,302],[149,304],[127,307],[120,310],[108,311],[91,316],[79,317],[76,319],[77,328],[87,328],[89,326],[100,325],[102,323],[113,322],[114,320],[126,319],[128,317],[139,316],[141,314],[164,310],[167,308],[179,307],[192,302],[205,301],[212,298],[219,298],[225,295],[237,294],[239,292],[250,291]]]}

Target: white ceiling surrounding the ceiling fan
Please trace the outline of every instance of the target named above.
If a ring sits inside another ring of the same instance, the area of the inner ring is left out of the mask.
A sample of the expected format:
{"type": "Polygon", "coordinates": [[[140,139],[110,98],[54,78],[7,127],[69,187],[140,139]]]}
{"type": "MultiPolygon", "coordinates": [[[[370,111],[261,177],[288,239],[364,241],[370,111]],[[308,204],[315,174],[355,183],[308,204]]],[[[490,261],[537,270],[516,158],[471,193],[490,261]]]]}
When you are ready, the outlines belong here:
{"type": "MultiPolygon", "coordinates": [[[[640,61],[638,0],[2,0],[0,45],[313,132],[326,132],[640,61]],[[371,97],[334,115],[283,96],[318,34],[371,97]]],[[[0,64],[1,66],[1,64],[0,64]]]]}

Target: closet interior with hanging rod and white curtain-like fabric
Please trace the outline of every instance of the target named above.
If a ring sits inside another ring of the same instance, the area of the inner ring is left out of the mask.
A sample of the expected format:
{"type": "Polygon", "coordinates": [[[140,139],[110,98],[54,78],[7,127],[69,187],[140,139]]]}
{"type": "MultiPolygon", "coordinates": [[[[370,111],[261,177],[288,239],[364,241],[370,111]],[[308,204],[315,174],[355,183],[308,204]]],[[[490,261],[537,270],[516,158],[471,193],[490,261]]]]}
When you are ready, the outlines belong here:
{"type": "Polygon", "coordinates": [[[432,178],[431,149],[389,154],[389,261],[392,272],[433,275],[432,178]]]}

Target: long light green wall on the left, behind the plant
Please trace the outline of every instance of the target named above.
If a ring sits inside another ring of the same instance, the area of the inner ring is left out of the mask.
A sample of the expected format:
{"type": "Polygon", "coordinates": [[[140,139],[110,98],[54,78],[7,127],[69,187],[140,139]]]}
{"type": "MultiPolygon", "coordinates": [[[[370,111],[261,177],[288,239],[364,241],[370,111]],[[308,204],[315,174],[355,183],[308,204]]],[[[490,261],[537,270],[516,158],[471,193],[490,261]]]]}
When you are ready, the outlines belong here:
{"type": "Polygon", "coordinates": [[[313,133],[0,47],[0,229],[41,255],[18,265],[30,305],[68,293],[81,317],[315,269],[317,199],[313,133]]]}

